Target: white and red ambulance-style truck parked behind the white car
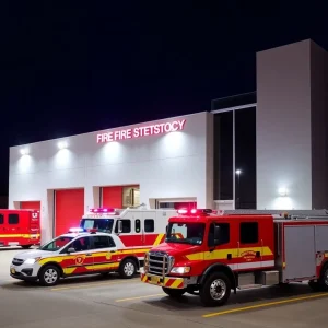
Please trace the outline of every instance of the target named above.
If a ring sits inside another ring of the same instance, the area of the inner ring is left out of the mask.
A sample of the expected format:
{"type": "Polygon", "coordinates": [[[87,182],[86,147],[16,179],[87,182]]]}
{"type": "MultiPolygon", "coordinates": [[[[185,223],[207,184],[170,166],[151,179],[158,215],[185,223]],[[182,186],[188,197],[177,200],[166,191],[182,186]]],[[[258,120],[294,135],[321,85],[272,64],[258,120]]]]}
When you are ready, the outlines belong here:
{"type": "MultiPolygon", "coordinates": [[[[157,210],[128,208],[95,208],[82,216],[79,227],[71,232],[96,230],[97,232],[116,234],[125,247],[143,248],[144,253],[152,246],[164,242],[168,219],[176,210],[157,210]]],[[[143,256],[140,258],[143,262],[143,256]]]]}

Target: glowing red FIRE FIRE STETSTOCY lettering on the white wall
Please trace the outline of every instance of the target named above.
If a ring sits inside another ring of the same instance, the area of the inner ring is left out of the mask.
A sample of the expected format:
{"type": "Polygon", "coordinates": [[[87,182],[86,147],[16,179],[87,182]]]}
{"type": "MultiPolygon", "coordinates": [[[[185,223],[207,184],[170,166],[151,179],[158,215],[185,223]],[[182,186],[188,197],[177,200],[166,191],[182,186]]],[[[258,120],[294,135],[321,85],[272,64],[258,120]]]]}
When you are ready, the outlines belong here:
{"type": "Polygon", "coordinates": [[[138,127],[133,129],[121,129],[97,134],[97,143],[119,140],[136,139],[140,137],[157,136],[168,132],[181,131],[185,128],[186,119],[138,127]]]}

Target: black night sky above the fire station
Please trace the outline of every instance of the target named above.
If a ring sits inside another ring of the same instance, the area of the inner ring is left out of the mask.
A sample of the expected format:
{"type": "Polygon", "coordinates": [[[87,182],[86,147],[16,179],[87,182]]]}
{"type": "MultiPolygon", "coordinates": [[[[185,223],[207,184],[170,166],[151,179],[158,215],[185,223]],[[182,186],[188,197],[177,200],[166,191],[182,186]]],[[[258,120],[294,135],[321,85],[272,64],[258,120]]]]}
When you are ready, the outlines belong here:
{"type": "Polygon", "coordinates": [[[256,90],[256,51],[328,48],[314,1],[1,2],[0,194],[10,145],[210,110],[256,90]]]}

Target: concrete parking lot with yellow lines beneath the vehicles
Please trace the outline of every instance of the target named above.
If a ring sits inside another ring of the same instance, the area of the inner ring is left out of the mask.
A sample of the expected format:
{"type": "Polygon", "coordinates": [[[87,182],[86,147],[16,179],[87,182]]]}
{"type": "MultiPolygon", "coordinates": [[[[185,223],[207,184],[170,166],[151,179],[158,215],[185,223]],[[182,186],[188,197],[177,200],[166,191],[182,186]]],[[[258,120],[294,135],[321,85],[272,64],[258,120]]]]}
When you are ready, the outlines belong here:
{"type": "Polygon", "coordinates": [[[54,288],[24,283],[9,276],[21,249],[0,250],[0,327],[327,327],[328,294],[306,284],[244,291],[223,307],[204,308],[198,297],[174,301],[136,277],[67,279],[54,288]]]}

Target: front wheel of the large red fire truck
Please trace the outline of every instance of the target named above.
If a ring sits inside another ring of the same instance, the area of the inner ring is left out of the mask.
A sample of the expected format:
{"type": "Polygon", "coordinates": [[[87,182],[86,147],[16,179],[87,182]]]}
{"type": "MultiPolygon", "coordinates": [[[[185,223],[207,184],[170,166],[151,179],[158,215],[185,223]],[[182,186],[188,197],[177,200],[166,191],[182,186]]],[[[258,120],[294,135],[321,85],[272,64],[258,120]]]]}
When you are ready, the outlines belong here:
{"type": "Polygon", "coordinates": [[[219,306],[226,303],[230,293],[230,279],[222,272],[214,272],[200,288],[199,296],[204,306],[219,306]]]}

